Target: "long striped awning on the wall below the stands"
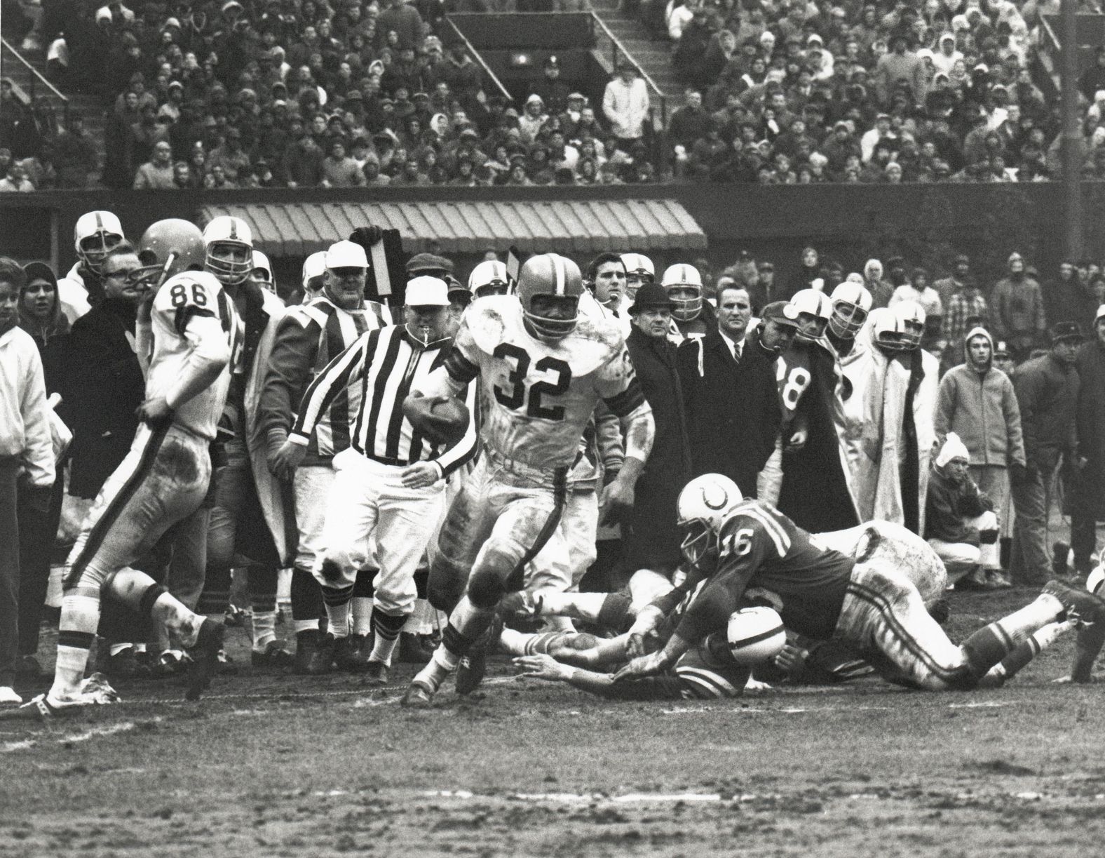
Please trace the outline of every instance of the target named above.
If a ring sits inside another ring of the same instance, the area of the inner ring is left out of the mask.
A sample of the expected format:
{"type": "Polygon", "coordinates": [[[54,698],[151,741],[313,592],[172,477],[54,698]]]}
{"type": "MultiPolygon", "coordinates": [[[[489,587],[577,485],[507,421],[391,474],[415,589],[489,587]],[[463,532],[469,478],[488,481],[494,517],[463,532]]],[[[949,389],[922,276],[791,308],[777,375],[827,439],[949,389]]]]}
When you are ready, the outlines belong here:
{"type": "Polygon", "coordinates": [[[706,234],[671,199],[538,201],[250,202],[204,206],[200,226],[220,214],[242,218],[270,257],[306,257],[357,227],[398,229],[409,252],[483,253],[514,244],[523,252],[696,250],[706,234]]]}

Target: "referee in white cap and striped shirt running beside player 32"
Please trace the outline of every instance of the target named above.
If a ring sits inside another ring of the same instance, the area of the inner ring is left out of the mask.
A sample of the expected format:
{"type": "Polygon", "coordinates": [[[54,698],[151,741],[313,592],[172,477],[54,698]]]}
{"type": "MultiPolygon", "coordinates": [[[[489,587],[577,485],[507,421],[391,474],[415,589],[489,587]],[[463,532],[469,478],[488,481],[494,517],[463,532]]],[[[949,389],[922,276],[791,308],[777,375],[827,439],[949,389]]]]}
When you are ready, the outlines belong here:
{"type": "Polygon", "coordinates": [[[314,574],[323,587],[330,628],[318,646],[345,647],[349,599],[372,538],[380,574],[372,606],[376,641],[366,671],[371,683],[387,681],[399,631],[413,610],[414,571],[444,513],[445,478],[476,452],[475,385],[466,394],[467,430],[452,447],[422,437],[403,416],[411,387],[444,360],[452,342],[449,312],[445,281],[411,280],[406,324],[362,334],[315,378],[280,451],[282,459],[297,467],[335,397],[359,384],[350,447],[334,457],[337,474],[314,574]]]}

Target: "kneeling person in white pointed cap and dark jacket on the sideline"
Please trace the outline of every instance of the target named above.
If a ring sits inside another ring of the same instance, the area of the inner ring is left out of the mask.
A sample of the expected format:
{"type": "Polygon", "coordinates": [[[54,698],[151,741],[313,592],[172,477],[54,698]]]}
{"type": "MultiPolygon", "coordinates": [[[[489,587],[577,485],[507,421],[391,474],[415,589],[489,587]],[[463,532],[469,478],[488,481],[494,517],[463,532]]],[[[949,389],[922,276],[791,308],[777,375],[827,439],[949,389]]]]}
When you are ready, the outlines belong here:
{"type": "Polygon", "coordinates": [[[991,589],[979,568],[997,559],[993,503],[971,480],[969,453],[950,432],[933,461],[925,504],[925,538],[957,588],[991,589]]]}

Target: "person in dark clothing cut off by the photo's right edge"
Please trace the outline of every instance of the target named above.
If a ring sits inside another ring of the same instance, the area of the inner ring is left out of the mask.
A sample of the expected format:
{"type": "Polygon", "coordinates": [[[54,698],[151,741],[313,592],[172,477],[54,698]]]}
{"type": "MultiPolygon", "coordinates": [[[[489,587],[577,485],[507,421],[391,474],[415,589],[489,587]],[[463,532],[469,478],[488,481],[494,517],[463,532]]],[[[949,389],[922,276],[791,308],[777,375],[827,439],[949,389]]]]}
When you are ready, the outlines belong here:
{"type": "Polygon", "coordinates": [[[1096,523],[1105,519],[1105,304],[1097,307],[1093,336],[1078,349],[1077,475],[1071,498],[1074,568],[1090,572],[1096,550],[1096,523]]]}

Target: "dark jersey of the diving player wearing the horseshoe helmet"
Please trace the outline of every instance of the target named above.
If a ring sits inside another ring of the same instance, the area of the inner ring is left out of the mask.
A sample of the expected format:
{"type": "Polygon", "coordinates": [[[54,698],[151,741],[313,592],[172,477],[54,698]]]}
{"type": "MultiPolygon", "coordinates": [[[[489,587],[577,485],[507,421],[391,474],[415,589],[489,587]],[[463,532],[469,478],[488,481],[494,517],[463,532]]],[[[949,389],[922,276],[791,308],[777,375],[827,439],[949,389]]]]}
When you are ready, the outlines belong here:
{"type": "Polygon", "coordinates": [[[748,588],[778,596],[783,625],[811,638],[832,637],[854,561],[817,543],[762,501],[745,501],[718,535],[715,573],[687,608],[677,634],[697,641],[723,628],[748,588]]]}

